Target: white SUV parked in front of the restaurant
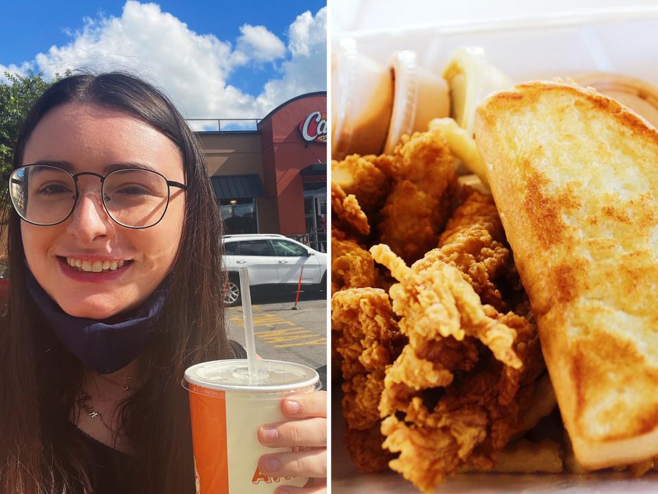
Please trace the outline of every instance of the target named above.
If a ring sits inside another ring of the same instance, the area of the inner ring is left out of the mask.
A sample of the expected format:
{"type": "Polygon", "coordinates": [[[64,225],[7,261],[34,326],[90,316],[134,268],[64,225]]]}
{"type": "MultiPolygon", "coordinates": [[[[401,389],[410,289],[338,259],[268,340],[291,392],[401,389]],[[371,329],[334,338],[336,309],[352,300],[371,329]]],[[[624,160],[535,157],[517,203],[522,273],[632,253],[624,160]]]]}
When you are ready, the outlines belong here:
{"type": "Polygon", "coordinates": [[[226,303],[241,301],[239,269],[247,268],[249,287],[302,285],[326,290],[327,255],[296,240],[276,234],[224,235],[224,268],[228,271],[226,303]],[[304,269],[302,270],[302,266],[304,269]]]}

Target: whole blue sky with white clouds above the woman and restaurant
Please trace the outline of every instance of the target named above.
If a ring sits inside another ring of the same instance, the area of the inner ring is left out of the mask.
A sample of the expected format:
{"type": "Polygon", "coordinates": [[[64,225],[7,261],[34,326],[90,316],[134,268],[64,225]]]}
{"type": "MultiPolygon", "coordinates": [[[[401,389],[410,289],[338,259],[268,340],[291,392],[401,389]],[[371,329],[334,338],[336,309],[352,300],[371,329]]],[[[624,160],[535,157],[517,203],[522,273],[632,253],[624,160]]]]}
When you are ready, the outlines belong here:
{"type": "Polygon", "coordinates": [[[127,69],[162,86],[186,117],[263,117],[326,90],[325,5],[2,1],[0,71],[127,69]]]}

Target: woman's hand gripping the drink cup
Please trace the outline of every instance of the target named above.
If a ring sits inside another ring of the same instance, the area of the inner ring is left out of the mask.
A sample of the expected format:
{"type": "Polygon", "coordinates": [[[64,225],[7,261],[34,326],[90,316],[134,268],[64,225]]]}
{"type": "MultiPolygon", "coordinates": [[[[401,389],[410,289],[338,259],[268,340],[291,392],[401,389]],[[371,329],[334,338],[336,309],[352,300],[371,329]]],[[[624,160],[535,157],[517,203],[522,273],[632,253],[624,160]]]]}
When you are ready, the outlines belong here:
{"type": "Polygon", "coordinates": [[[304,447],[304,451],[260,457],[260,471],[271,476],[308,477],[304,487],[281,486],[276,494],[324,494],[327,491],[327,394],[317,391],[283,399],[289,421],[267,424],[258,440],[268,447],[304,447]]]}

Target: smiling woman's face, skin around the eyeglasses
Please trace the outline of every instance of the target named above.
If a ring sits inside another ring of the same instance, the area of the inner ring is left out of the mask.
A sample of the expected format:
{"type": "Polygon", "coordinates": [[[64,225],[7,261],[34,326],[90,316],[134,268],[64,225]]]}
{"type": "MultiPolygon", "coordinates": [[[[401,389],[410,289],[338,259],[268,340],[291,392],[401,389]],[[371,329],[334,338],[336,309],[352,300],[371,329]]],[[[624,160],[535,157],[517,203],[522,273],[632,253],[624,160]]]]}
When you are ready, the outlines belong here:
{"type": "MultiPolygon", "coordinates": [[[[125,113],[88,104],[65,104],[41,119],[25,145],[23,165],[43,161],[62,163],[73,174],[103,176],[111,165],[141,165],[156,169],[167,180],[185,181],[180,151],[164,134],[125,113]]],[[[138,307],[173,267],[185,194],[171,187],[162,220],[136,230],[108,217],[99,178],[80,176],[77,187],[80,196],[65,222],[36,226],[21,221],[25,258],[34,277],[67,314],[108,318],[138,307]],[[123,266],[83,272],[69,266],[67,258],[92,265],[107,261],[106,266],[123,261],[123,266]]]]}

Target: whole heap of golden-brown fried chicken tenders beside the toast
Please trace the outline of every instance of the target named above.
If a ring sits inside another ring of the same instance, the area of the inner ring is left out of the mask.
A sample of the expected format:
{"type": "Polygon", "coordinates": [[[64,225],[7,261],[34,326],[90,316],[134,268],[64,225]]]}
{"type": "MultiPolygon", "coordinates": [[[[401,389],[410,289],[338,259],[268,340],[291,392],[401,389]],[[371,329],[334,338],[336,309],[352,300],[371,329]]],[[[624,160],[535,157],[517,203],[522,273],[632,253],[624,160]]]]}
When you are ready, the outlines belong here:
{"type": "Polygon", "coordinates": [[[491,195],[459,191],[439,131],[334,161],[332,174],[332,341],[350,457],[423,491],[496,467],[545,366],[491,195]],[[368,252],[371,239],[382,244],[368,252]]]}

